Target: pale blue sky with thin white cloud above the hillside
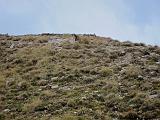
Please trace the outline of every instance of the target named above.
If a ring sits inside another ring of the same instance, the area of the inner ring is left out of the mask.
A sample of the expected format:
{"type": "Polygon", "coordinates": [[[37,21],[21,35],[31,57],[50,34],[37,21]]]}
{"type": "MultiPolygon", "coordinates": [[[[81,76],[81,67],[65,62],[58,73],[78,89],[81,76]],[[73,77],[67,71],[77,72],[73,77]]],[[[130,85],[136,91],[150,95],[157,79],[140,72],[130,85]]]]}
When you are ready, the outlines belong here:
{"type": "Polygon", "coordinates": [[[0,33],[95,33],[160,45],[160,0],[0,0],[0,33]]]}

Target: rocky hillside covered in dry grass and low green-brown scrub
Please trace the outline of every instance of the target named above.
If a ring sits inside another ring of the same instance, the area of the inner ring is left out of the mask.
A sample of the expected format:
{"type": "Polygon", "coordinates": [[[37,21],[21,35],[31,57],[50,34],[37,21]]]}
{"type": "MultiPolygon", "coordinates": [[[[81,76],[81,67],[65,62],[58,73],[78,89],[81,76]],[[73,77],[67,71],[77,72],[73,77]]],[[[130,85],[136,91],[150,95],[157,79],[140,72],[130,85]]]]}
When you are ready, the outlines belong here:
{"type": "Polygon", "coordinates": [[[0,35],[0,120],[160,120],[160,47],[96,35],[0,35]]]}

